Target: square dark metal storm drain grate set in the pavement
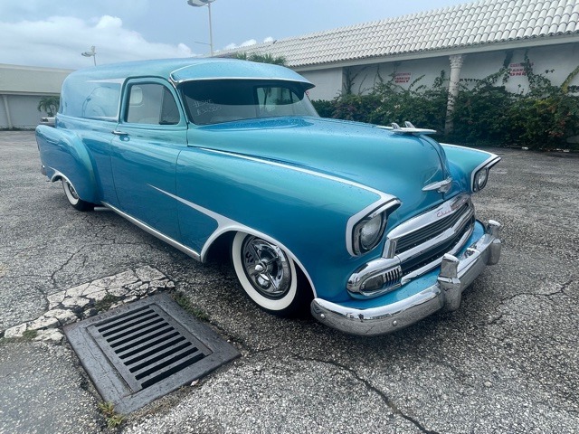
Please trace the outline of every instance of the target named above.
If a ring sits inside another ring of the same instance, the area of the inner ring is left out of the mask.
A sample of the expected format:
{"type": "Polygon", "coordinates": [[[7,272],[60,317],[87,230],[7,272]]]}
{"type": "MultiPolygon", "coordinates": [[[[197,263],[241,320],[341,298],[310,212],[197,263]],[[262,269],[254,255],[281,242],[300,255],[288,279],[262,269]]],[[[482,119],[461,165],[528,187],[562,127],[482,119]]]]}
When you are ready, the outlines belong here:
{"type": "Polygon", "coordinates": [[[165,294],[67,325],[104,401],[128,413],[239,356],[165,294]]]}

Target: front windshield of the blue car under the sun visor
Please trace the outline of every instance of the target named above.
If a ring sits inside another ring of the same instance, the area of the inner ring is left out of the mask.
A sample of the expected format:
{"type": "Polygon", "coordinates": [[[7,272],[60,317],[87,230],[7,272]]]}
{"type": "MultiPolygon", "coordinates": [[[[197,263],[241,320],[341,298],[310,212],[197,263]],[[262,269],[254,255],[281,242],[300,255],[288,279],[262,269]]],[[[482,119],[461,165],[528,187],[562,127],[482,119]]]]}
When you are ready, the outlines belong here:
{"type": "Polygon", "coordinates": [[[304,84],[276,80],[195,80],[181,85],[196,125],[276,116],[318,116],[304,84]]]}

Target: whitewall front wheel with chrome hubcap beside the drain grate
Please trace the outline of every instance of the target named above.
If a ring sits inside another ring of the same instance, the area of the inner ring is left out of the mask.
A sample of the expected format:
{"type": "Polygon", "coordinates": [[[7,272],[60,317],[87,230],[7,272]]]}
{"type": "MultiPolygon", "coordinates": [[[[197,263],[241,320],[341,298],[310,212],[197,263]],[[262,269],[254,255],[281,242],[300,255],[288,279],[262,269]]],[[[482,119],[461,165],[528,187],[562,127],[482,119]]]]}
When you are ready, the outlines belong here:
{"type": "Polygon", "coordinates": [[[296,316],[309,308],[311,291],[303,282],[305,278],[279,246],[238,232],[232,259],[245,293],[263,310],[277,316],[296,316]]]}

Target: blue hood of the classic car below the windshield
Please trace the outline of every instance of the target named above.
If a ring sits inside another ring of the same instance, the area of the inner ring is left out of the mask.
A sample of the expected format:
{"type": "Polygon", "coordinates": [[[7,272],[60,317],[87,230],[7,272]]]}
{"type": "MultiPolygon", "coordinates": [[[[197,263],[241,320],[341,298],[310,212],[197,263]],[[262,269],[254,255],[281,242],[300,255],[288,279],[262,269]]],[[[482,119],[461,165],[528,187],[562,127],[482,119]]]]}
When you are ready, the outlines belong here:
{"type": "Polygon", "coordinates": [[[396,220],[441,203],[442,193],[422,188],[449,176],[444,151],[431,138],[337,119],[265,118],[196,127],[189,145],[297,165],[393,194],[403,202],[396,220]]]}

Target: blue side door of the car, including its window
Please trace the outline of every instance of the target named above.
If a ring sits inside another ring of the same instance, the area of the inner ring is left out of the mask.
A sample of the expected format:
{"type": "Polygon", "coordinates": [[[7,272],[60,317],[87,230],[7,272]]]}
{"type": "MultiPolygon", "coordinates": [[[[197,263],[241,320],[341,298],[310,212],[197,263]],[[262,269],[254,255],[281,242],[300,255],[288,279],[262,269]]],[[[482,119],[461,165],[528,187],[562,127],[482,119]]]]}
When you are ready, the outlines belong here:
{"type": "Polygon", "coordinates": [[[166,236],[180,237],[175,194],[177,156],[187,126],[175,90],[165,80],[128,80],[111,165],[119,209],[166,236]]]}

